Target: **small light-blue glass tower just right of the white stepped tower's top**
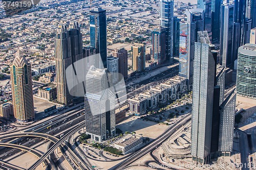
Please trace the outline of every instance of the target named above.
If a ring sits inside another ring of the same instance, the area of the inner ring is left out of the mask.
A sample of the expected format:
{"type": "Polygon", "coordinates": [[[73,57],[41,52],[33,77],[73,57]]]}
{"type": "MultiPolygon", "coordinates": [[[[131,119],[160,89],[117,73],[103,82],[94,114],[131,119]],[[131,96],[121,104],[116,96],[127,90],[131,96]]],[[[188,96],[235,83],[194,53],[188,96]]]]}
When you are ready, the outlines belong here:
{"type": "Polygon", "coordinates": [[[108,71],[111,73],[113,84],[118,82],[118,58],[109,56],[108,60],[108,71]]]}

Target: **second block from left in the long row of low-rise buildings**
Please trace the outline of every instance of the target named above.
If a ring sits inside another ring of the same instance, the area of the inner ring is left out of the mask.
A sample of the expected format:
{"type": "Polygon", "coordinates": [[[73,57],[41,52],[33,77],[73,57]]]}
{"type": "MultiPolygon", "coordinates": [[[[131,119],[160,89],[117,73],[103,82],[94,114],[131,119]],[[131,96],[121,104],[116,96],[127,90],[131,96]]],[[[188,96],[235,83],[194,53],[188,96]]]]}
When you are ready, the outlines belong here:
{"type": "Polygon", "coordinates": [[[159,93],[157,91],[146,90],[146,91],[139,93],[139,95],[147,98],[147,108],[154,109],[157,107],[158,95],[159,95],[159,93]]]}

